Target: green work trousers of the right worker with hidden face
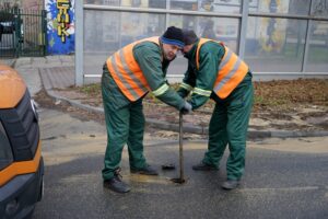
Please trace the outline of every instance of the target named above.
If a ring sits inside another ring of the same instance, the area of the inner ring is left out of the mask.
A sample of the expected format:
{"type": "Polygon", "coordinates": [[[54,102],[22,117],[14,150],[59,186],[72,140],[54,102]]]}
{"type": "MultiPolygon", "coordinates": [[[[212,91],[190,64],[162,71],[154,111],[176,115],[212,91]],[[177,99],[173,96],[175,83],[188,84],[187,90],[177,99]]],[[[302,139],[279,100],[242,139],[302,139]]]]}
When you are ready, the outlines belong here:
{"type": "Polygon", "coordinates": [[[239,180],[245,169],[247,128],[253,106],[254,88],[248,72],[238,87],[224,100],[216,102],[209,127],[208,151],[203,163],[219,166],[229,145],[227,180],[239,180]]]}

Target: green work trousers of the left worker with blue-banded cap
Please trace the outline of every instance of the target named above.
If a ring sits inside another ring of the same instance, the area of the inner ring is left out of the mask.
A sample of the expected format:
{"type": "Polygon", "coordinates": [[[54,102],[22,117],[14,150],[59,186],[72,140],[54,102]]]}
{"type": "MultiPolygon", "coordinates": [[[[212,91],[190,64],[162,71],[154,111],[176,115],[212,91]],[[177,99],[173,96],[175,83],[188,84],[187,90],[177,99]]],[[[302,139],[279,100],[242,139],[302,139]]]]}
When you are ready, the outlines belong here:
{"type": "Polygon", "coordinates": [[[147,165],[143,157],[144,115],[142,99],[130,102],[119,90],[104,66],[102,94],[107,128],[107,148],[103,178],[114,177],[119,168],[124,146],[128,145],[130,169],[147,165]]]}

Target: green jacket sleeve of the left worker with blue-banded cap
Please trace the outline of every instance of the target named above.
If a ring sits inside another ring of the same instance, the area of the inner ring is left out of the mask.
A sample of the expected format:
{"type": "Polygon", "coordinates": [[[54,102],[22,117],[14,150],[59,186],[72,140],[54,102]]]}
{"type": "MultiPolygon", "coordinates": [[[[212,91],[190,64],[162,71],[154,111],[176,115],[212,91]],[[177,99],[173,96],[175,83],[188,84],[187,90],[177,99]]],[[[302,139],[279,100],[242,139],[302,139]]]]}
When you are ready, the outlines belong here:
{"type": "Polygon", "coordinates": [[[162,61],[162,49],[156,44],[143,42],[133,47],[133,56],[150,85],[151,92],[162,102],[177,110],[183,108],[181,99],[166,82],[168,60],[162,61]]]}

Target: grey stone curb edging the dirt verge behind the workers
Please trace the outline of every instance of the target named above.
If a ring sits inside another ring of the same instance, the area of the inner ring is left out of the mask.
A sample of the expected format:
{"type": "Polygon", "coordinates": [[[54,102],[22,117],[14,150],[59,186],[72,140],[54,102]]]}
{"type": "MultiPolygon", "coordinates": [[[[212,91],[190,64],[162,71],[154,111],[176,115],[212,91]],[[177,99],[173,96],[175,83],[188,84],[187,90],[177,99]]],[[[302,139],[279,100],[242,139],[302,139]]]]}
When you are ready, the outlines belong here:
{"type": "MultiPolygon", "coordinates": [[[[104,110],[101,107],[94,107],[90,105],[82,104],[80,101],[70,100],[60,95],[55,94],[51,90],[45,90],[47,95],[50,96],[54,101],[61,101],[69,105],[75,106],[78,108],[91,112],[91,113],[101,113],[104,114],[104,110]]],[[[172,130],[179,131],[179,127],[176,124],[169,124],[165,122],[161,122],[153,118],[145,119],[147,125],[153,128],[163,129],[163,130],[172,130]]],[[[199,127],[199,126],[184,126],[184,131],[188,134],[197,134],[197,135],[208,135],[208,128],[199,127]]],[[[328,131],[325,130],[254,130],[248,129],[247,137],[248,139],[257,139],[257,138],[298,138],[298,137],[324,137],[328,136],[328,131]]]]}

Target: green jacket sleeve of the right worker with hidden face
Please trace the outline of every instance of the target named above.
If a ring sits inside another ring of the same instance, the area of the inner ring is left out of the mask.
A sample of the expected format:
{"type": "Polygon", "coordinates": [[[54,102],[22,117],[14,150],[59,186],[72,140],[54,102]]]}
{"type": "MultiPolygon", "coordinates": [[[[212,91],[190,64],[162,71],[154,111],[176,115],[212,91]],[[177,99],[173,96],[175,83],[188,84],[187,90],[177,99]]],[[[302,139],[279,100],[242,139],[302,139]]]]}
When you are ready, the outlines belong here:
{"type": "Polygon", "coordinates": [[[210,99],[223,56],[224,47],[218,43],[209,42],[200,48],[199,69],[190,101],[192,110],[202,106],[210,99]]]}

